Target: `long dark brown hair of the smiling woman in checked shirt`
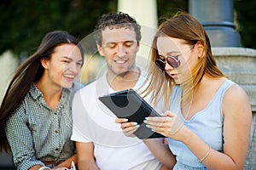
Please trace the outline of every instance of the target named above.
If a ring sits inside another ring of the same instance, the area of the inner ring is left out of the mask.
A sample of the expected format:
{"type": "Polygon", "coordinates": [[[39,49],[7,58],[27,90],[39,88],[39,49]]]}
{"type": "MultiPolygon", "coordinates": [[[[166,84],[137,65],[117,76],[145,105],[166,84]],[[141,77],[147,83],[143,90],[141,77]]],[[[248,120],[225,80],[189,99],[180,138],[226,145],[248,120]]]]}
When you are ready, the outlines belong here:
{"type": "Polygon", "coordinates": [[[41,65],[41,59],[50,59],[55,48],[63,43],[77,45],[84,59],[84,51],[75,37],[68,34],[67,31],[51,31],[45,35],[37,51],[15,71],[15,75],[9,82],[0,107],[0,151],[10,151],[4,131],[5,123],[9,116],[19,107],[32,83],[38,82],[42,77],[44,67],[41,65]]]}

